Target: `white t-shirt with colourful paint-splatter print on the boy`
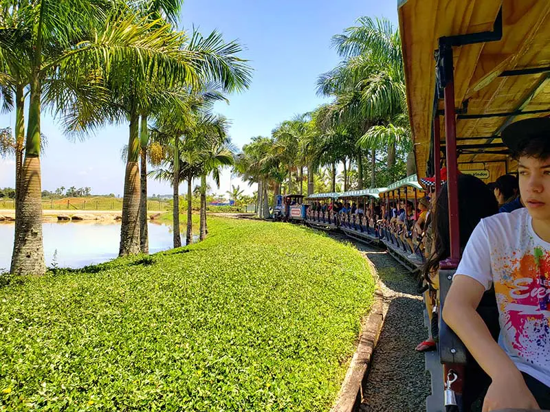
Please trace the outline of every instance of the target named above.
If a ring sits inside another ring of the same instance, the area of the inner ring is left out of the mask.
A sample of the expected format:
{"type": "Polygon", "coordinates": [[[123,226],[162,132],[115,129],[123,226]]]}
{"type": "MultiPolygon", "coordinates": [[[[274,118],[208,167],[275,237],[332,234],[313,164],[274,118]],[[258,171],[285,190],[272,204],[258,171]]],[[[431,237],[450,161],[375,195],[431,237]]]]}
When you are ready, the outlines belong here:
{"type": "Polygon", "coordinates": [[[498,344],[520,371],[550,387],[550,243],[527,209],[482,219],[467,242],[457,275],[494,284],[498,344]]]}

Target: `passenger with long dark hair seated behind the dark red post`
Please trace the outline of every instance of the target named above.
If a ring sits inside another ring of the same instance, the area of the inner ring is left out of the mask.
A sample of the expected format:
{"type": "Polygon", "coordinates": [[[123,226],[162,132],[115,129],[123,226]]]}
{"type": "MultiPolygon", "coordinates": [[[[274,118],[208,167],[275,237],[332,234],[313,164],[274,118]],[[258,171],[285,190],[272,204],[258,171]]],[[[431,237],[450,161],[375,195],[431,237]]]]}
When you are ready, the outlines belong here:
{"type": "MultiPolygon", "coordinates": [[[[470,238],[474,227],[481,218],[492,216],[498,213],[498,203],[489,187],[480,179],[470,174],[459,174],[457,176],[459,192],[459,233],[461,248],[465,247],[470,238]]],[[[433,308],[437,309],[437,293],[439,289],[439,279],[437,271],[439,262],[445,260],[450,255],[449,240],[449,212],[448,212],[448,194],[447,184],[441,187],[441,192],[434,201],[432,211],[432,251],[423,266],[423,275],[426,282],[430,284],[430,289],[426,291],[425,301],[430,319],[433,319],[433,308]]],[[[446,305],[446,302],[445,302],[446,305]]],[[[426,352],[435,350],[435,341],[433,336],[417,345],[416,350],[426,352]]]]}

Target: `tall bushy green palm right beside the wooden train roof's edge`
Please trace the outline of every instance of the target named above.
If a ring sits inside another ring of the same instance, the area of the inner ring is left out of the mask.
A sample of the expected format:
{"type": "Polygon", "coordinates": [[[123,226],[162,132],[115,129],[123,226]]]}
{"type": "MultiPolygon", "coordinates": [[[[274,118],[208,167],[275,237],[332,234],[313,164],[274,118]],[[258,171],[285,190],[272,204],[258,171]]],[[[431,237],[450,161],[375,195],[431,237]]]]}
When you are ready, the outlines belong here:
{"type": "Polygon", "coordinates": [[[372,172],[375,150],[387,148],[393,173],[396,144],[411,148],[399,32],[386,19],[362,17],[358,25],[333,36],[333,45],[344,61],[320,76],[318,91],[336,95],[338,117],[357,130],[360,148],[373,150],[372,172]]]}

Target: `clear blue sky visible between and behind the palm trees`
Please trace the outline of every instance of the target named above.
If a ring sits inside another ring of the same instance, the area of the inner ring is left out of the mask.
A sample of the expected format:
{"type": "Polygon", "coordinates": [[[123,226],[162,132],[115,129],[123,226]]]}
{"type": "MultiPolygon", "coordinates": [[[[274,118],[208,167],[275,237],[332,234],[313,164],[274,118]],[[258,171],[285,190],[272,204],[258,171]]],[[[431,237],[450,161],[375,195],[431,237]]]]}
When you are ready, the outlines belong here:
{"type": "MultiPolygon", "coordinates": [[[[203,34],[212,30],[226,40],[245,45],[242,56],[254,69],[248,91],[230,97],[230,104],[215,110],[232,121],[230,135],[241,148],[250,137],[271,130],[297,113],[316,108],[327,99],[316,95],[316,78],[339,62],[331,36],[354,24],[359,16],[384,16],[397,26],[395,0],[186,0],[180,24],[203,34]]],[[[26,113],[25,113],[26,115],[26,113]]],[[[0,127],[13,126],[14,113],[0,115],[0,127]]],[[[94,194],[122,194],[124,163],[120,150],[128,141],[128,126],[109,126],[85,141],[72,141],[61,133],[50,115],[43,115],[42,132],[48,146],[42,157],[42,187],[92,188],[94,194]]],[[[248,187],[239,179],[249,194],[248,187]]],[[[0,159],[0,187],[14,186],[13,159],[0,159]]],[[[186,185],[181,185],[184,192],[186,185]]],[[[230,189],[230,172],[221,187],[230,189]]],[[[169,194],[170,185],[148,181],[149,194],[169,194]]]]}

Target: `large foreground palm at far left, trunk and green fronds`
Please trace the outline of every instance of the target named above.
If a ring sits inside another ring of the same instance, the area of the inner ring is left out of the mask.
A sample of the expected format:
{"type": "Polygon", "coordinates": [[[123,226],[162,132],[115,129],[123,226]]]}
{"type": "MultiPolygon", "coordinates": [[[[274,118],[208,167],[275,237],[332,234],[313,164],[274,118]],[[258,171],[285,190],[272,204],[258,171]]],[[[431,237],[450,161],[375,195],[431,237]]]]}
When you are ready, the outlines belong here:
{"type": "MultiPolygon", "coordinates": [[[[0,33],[0,66],[10,70],[8,62],[16,58],[28,63],[30,102],[11,272],[42,274],[41,101],[61,114],[65,109],[93,112],[105,96],[104,89],[96,87],[102,81],[98,69],[134,58],[146,65],[164,59],[160,46],[168,37],[159,22],[145,27],[115,1],[22,1],[15,8],[12,3],[1,1],[3,23],[8,24],[0,33]],[[27,39],[23,56],[10,54],[17,38],[27,39]]],[[[22,117],[16,117],[21,124],[22,117]]]]}

